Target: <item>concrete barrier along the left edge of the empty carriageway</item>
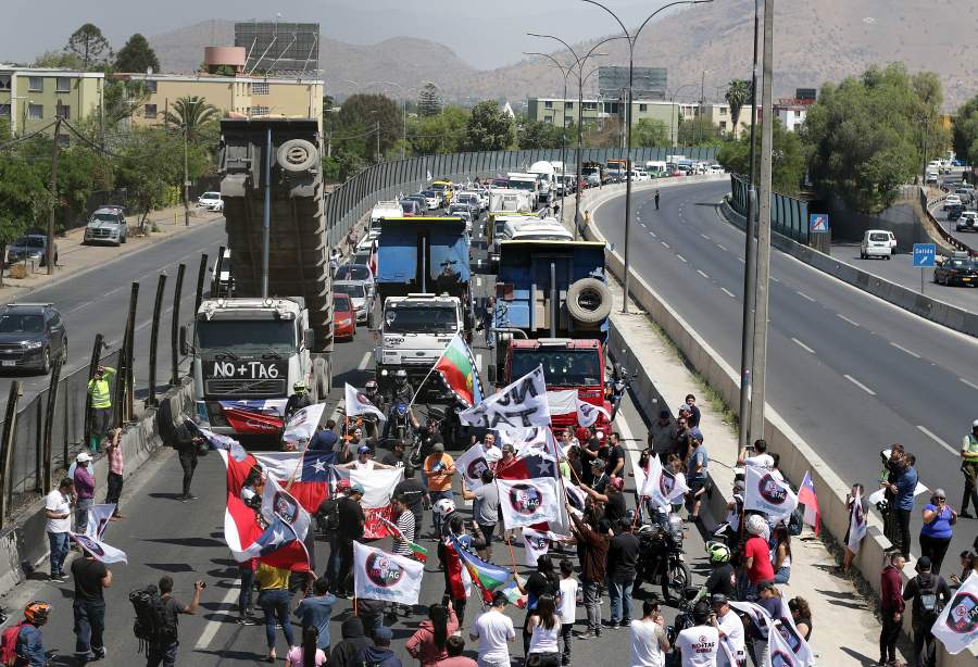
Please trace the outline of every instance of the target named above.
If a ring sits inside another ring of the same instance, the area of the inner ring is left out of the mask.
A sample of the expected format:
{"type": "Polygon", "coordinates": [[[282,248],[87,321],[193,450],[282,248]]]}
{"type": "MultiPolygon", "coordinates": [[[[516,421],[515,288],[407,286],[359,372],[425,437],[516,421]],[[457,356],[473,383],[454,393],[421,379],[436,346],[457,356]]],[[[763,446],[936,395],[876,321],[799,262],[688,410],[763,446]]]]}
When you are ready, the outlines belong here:
{"type": "MultiPolygon", "coordinates": [[[[590,203],[594,207],[615,194],[607,194],[600,200],[590,203]]],[[[593,214],[593,213],[592,213],[593,214]]],[[[598,228],[598,218],[586,230],[586,237],[590,240],[603,241],[604,237],[598,228]]],[[[797,243],[795,243],[797,244],[797,243]]],[[[606,251],[609,270],[619,280],[624,277],[624,260],[614,251],[606,251]]],[[[630,272],[629,285],[631,297],[645,313],[679,348],[693,368],[706,380],[706,382],[723,398],[728,406],[737,410],[740,404],[739,374],[720,355],[713,350],[692,327],[690,327],[679,313],[650,286],[641,276],[630,272]]],[[[611,334],[612,349],[628,348],[625,340],[616,329],[611,334]]],[[[640,364],[639,364],[640,366],[640,364]]],[[[653,399],[661,399],[655,389],[654,378],[649,377],[644,368],[639,368],[639,377],[632,383],[632,391],[640,405],[653,405],[653,399]]],[[[817,452],[801,437],[791,426],[781,418],[770,406],[766,408],[766,421],[764,425],[764,438],[772,451],[781,455],[780,470],[791,480],[795,487],[801,482],[806,471],[811,473],[812,481],[818,490],[818,505],[822,512],[824,528],[841,543],[849,528],[849,509],[845,505],[845,494],[850,488],[850,480],[841,479],[831,467],[822,460],[817,452]]],[[[732,500],[730,489],[717,484],[711,502],[711,511],[714,516],[723,515],[723,507],[732,500]]],[[[886,566],[886,552],[892,546],[882,534],[882,524],[878,517],[870,514],[869,528],[866,539],[854,561],[855,567],[862,574],[873,592],[879,595],[880,575],[886,566]]],[[[911,633],[910,614],[904,616],[904,632],[911,633]]],[[[978,647],[965,651],[956,656],[949,655],[943,649],[938,649],[939,667],[969,667],[975,666],[978,658],[978,647]]]]}

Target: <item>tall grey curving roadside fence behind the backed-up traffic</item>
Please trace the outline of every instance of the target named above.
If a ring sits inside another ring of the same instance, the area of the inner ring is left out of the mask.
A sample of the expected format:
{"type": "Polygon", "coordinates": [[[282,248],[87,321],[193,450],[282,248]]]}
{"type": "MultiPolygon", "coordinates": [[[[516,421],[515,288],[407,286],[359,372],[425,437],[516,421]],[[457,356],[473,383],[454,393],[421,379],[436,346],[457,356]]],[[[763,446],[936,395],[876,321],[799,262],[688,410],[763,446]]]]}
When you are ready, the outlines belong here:
{"type": "MultiPolygon", "coordinates": [[[[606,164],[609,158],[622,159],[626,153],[617,148],[587,148],[580,151],[580,162],[606,164]]],[[[716,148],[636,148],[631,150],[631,160],[644,164],[650,160],[664,161],[666,155],[675,154],[682,154],[687,160],[711,161],[716,155],[716,148]]],[[[327,241],[331,244],[342,239],[378,200],[416,191],[431,178],[475,178],[526,169],[537,161],[561,158],[561,149],[484,151],[422,155],[372,165],[326,196],[327,241]]],[[[576,149],[568,147],[563,159],[574,162],[576,149]]]]}

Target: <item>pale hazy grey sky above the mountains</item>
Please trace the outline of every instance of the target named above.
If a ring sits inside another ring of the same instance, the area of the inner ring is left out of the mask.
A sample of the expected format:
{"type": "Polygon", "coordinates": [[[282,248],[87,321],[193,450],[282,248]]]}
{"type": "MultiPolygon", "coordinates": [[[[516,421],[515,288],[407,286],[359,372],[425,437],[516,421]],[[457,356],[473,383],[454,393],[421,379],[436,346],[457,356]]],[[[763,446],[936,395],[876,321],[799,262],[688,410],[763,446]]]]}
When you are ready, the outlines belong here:
{"type": "MultiPolygon", "coordinates": [[[[664,0],[665,1],[665,0],[664,0]]],[[[626,25],[636,25],[661,2],[605,0],[626,25]]],[[[153,36],[210,18],[317,21],[326,37],[373,43],[410,35],[440,41],[477,67],[496,67],[523,51],[552,51],[556,42],[526,37],[550,33],[575,42],[618,30],[601,9],[581,0],[3,0],[0,62],[30,61],[60,49],[83,23],[93,23],[118,49],[133,33],[153,36]]]]}

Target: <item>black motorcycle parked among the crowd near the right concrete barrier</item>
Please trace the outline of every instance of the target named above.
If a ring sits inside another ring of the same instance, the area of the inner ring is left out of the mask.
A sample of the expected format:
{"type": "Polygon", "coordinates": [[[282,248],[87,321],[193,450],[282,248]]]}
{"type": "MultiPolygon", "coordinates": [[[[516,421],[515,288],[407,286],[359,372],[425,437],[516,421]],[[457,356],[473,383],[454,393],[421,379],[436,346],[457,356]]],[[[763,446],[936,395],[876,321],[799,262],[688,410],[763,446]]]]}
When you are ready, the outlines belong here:
{"type": "Polygon", "coordinates": [[[637,534],[641,551],[636,590],[643,582],[657,583],[662,587],[663,599],[668,603],[676,602],[692,580],[682,551],[682,519],[670,514],[667,528],[660,524],[643,524],[637,534]]]}

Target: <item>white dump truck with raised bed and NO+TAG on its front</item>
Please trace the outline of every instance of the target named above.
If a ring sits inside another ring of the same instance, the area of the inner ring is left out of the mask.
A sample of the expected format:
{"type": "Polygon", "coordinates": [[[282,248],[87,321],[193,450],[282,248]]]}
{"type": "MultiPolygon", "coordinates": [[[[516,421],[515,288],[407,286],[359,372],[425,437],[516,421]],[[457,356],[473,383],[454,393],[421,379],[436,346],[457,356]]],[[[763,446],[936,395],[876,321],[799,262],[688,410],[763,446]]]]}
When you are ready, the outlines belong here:
{"type": "Polygon", "coordinates": [[[277,438],[296,382],[314,401],[329,393],[333,286],[321,154],[315,118],[221,121],[218,172],[235,279],[201,303],[191,331],[180,330],[197,414],[216,432],[277,438]]]}

